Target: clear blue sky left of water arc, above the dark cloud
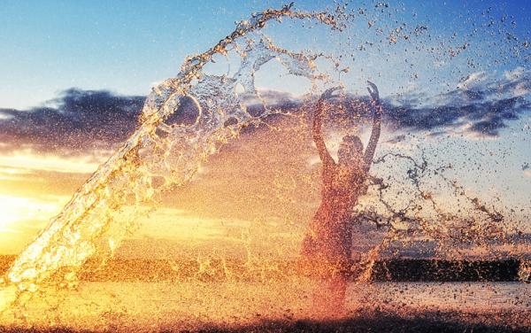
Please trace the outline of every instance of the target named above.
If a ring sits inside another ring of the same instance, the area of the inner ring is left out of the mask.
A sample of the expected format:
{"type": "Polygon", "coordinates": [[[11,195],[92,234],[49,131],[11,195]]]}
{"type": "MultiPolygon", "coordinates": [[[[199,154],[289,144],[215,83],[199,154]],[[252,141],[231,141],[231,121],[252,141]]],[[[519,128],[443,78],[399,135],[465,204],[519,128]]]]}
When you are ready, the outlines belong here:
{"type": "Polygon", "coordinates": [[[146,95],[235,20],[268,4],[3,1],[2,107],[35,105],[70,87],[146,95]]]}

